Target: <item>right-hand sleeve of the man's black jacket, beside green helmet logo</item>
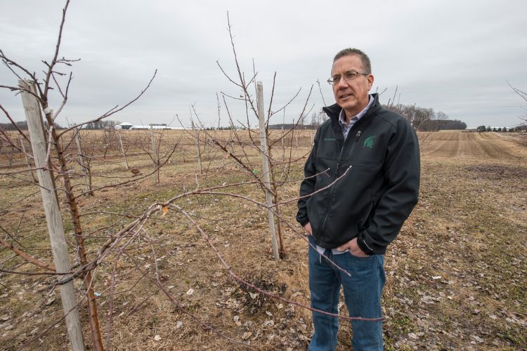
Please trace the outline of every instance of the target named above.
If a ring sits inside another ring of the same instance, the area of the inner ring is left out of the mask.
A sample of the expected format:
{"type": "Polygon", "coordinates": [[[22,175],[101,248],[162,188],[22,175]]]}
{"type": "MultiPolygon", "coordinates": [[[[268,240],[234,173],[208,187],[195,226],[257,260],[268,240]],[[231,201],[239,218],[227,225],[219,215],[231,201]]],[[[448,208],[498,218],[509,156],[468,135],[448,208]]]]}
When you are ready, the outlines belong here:
{"type": "Polygon", "coordinates": [[[383,176],[386,191],[372,210],[370,225],[358,234],[357,244],[367,254],[384,253],[396,238],[419,197],[419,141],[414,128],[401,118],[389,140],[383,176]]]}

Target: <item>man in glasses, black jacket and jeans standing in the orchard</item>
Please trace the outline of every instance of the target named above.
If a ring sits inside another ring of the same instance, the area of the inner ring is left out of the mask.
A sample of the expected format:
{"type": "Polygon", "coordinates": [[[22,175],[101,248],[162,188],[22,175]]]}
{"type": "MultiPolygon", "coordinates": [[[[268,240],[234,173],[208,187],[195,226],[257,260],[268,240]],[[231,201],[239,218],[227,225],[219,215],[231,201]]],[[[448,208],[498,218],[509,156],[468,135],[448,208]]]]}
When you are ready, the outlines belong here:
{"type": "MultiPolygon", "coordinates": [[[[377,94],[368,93],[373,79],[362,51],[346,48],[334,57],[328,82],[337,103],[323,109],[330,119],[318,128],[304,166],[297,213],[315,248],[309,247],[311,307],[338,314],[342,286],[355,317],[355,350],[383,348],[383,254],[419,193],[417,135],[406,119],[382,108],[377,94]]],[[[333,350],[338,322],[313,312],[309,350],[333,350]]]]}

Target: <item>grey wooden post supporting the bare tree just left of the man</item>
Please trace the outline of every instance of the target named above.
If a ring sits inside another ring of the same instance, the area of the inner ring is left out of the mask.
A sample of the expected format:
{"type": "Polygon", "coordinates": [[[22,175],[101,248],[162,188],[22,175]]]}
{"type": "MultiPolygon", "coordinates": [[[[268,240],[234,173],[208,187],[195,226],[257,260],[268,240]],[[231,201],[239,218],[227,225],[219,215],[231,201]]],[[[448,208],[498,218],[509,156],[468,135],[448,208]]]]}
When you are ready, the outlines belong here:
{"type": "Polygon", "coordinates": [[[267,150],[266,121],[263,112],[263,85],[261,81],[256,83],[256,104],[258,105],[258,120],[260,124],[260,148],[261,148],[261,168],[263,172],[263,185],[266,187],[266,204],[268,206],[269,229],[271,230],[271,242],[273,244],[273,255],[275,260],[280,260],[278,253],[278,243],[276,242],[275,216],[271,211],[273,197],[271,194],[271,180],[269,180],[269,159],[267,150]]]}

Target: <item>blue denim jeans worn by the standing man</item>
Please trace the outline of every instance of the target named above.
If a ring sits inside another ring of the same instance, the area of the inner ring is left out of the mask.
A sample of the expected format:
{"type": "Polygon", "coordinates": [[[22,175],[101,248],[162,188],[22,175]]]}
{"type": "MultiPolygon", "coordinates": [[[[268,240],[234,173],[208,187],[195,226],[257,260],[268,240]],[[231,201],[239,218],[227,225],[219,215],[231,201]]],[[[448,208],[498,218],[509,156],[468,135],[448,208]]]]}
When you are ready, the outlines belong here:
{"type": "MultiPolygon", "coordinates": [[[[314,244],[313,238],[309,242],[314,244]]],[[[309,290],[311,307],[338,314],[340,286],[350,317],[382,317],[381,296],[384,287],[384,256],[358,258],[350,253],[334,255],[326,249],[324,255],[351,274],[349,277],[329,263],[309,246],[309,290]]],[[[337,346],[339,319],[313,312],[315,333],[308,350],[334,350],[337,346]]],[[[353,349],[382,350],[382,321],[352,320],[353,349]]]]}

